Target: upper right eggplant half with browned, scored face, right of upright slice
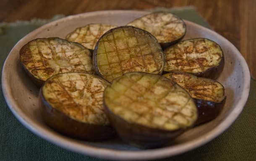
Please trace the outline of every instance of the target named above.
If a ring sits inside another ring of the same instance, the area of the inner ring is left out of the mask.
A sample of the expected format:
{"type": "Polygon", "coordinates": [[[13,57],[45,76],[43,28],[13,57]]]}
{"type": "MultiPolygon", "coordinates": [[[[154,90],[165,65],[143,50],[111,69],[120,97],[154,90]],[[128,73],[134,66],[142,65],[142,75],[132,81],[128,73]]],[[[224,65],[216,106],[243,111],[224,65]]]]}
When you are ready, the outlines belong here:
{"type": "Polygon", "coordinates": [[[224,68],[220,46],[206,38],[183,40],[165,49],[165,71],[217,79],[224,68]]]}

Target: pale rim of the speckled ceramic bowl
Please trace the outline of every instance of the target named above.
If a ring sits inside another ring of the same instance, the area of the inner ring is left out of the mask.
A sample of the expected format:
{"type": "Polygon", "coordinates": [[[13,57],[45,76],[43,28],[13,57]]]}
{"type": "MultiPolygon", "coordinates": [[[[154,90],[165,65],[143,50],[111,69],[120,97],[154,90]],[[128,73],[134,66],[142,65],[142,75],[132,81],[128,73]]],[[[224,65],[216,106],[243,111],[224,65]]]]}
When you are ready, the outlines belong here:
{"type": "Polygon", "coordinates": [[[18,48],[18,45],[21,44],[24,39],[28,38],[31,34],[39,33],[41,30],[45,28],[49,28],[50,26],[56,24],[65,22],[67,20],[71,20],[73,18],[85,18],[90,17],[92,15],[104,15],[104,14],[122,14],[122,13],[138,13],[138,14],[146,14],[149,13],[148,11],[139,11],[139,10],[102,10],[102,11],[94,11],[94,12],[88,12],[88,13],[80,13],[78,15],[70,15],[65,18],[61,18],[55,21],[52,21],[50,23],[47,23],[45,25],[42,25],[41,27],[37,28],[36,30],[32,31],[31,33],[27,34],[21,40],[16,43],[16,45],[12,48],[10,53],[8,54],[7,58],[5,59],[5,63],[3,65],[2,69],[2,91],[5,98],[5,101],[10,108],[10,111],[14,114],[14,116],[20,121],[26,128],[28,128],[31,132],[36,134],[37,136],[43,138],[44,140],[49,141],[50,143],[53,143],[57,146],[60,146],[62,148],[68,149],[73,152],[82,153],[88,156],[93,156],[97,158],[104,158],[104,159],[118,159],[118,160],[146,160],[146,159],[157,159],[157,158],[165,158],[174,156],[180,153],[184,153],[186,151],[190,151],[194,148],[197,148],[199,146],[204,145],[205,143],[212,141],[214,138],[219,136],[221,133],[223,133],[229,126],[238,118],[239,114],[243,110],[243,107],[246,104],[246,101],[248,99],[249,95],[249,89],[250,89],[250,81],[251,81],[251,75],[249,72],[248,65],[246,63],[246,60],[243,58],[241,53],[238,51],[237,48],[235,48],[232,43],[230,43],[226,38],[219,35],[218,33],[214,32],[213,30],[210,30],[208,28],[205,28],[201,25],[198,25],[196,23],[184,20],[187,25],[195,26],[196,28],[199,28],[201,30],[205,30],[208,33],[211,33],[213,35],[216,35],[219,39],[222,39],[225,41],[227,45],[229,45],[231,48],[234,48],[235,54],[240,61],[240,65],[242,67],[242,72],[244,76],[244,86],[242,89],[242,94],[240,98],[240,101],[236,105],[234,105],[234,109],[223,119],[221,123],[219,123],[218,126],[213,128],[211,131],[203,134],[200,138],[196,138],[190,141],[187,141],[185,143],[180,143],[178,145],[173,145],[169,147],[163,147],[163,148],[156,148],[156,149],[147,149],[147,150],[141,150],[141,151],[127,151],[127,150],[116,150],[116,149],[108,149],[108,148],[101,148],[101,147],[94,147],[90,145],[86,145],[85,143],[81,143],[79,141],[76,141],[72,138],[68,138],[65,136],[62,136],[61,134],[55,133],[54,131],[51,131],[49,129],[45,129],[42,126],[39,126],[40,123],[36,123],[33,121],[33,119],[26,116],[26,113],[24,113],[20,108],[18,102],[15,100],[15,98],[12,96],[12,91],[10,87],[9,78],[10,75],[8,72],[10,68],[8,68],[8,62],[10,61],[10,57],[13,55],[13,50],[15,48],[18,48]]]}

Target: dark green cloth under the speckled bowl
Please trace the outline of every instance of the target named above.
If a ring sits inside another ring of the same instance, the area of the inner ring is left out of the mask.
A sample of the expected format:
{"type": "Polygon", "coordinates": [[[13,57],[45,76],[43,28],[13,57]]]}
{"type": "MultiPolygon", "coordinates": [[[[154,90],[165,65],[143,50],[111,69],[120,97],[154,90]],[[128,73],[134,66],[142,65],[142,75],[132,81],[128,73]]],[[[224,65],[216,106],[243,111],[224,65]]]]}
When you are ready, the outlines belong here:
{"type": "MultiPolygon", "coordinates": [[[[162,10],[162,8],[160,8],[162,10]]],[[[159,10],[159,8],[157,8],[159,10]]],[[[169,10],[169,9],[168,9],[169,10]]],[[[209,28],[195,8],[175,8],[173,13],[209,28]]],[[[61,17],[61,16],[58,16],[61,17]]],[[[47,23],[47,20],[0,24],[0,67],[10,49],[24,35],[47,23]]],[[[253,161],[256,160],[256,81],[251,79],[251,90],[246,106],[232,126],[213,141],[187,153],[163,161],[253,161]]],[[[0,161],[55,161],[100,159],[67,151],[27,130],[13,116],[0,93],[0,161]]]]}

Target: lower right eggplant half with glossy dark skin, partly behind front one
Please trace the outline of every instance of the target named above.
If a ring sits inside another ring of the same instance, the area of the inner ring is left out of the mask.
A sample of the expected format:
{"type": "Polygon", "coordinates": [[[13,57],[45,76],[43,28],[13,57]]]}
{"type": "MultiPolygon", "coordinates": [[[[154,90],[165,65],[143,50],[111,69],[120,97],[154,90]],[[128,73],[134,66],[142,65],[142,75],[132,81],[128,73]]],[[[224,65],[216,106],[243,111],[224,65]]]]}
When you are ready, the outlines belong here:
{"type": "Polygon", "coordinates": [[[199,114],[196,125],[216,118],[225,105],[225,88],[218,81],[190,73],[168,73],[163,76],[178,83],[195,100],[199,114]]]}

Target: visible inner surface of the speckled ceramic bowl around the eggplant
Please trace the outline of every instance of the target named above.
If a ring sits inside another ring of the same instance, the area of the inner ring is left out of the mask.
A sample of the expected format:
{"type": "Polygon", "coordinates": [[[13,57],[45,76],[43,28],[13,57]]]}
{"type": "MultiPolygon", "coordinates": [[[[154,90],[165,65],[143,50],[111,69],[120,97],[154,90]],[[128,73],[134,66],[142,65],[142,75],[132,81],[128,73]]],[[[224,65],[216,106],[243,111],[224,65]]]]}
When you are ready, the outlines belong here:
{"type": "MultiPolygon", "coordinates": [[[[51,25],[46,25],[40,30],[36,30],[31,33],[29,36],[23,38],[10,53],[9,60],[9,84],[10,90],[12,92],[13,98],[18,104],[18,108],[22,111],[27,120],[33,120],[35,130],[44,129],[48,132],[48,134],[52,136],[61,136],[61,134],[56,133],[48,126],[44,124],[42,118],[39,113],[38,107],[38,91],[39,88],[35,86],[31,80],[26,75],[24,69],[22,68],[19,62],[19,50],[20,48],[26,44],[29,40],[35,38],[43,38],[43,37],[60,37],[65,38],[69,32],[74,30],[75,28],[81,27],[88,23],[110,23],[113,25],[125,25],[130,22],[134,18],[140,17],[141,14],[125,14],[122,18],[119,15],[88,15],[88,16],[77,16],[76,18],[69,18],[66,20],[59,20],[57,23],[52,23],[51,25]]],[[[236,56],[233,54],[236,51],[235,48],[231,48],[229,44],[226,43],[226,40],[223,40],[222,37],[209,33],[208,30],[198,27],[193,23],[187,22],[187,33],[185,38],[209,38],[217,42],[225,55],[225,67],[224,70],[219,77],[218,81],[221,82],[225,87],[225,95],[227,96],[227,100],[225,103],[225,107],[223,108],[221,114],[209,123],[205,123],[201,126],[196,126],[195,128],[191,128],[190,130],[183,133],[181,136],[176,138],[173,143],[170,145],[177,145],[181,143],[185,143],[187,141],[191,141],[193,139],[200,138],[207,133],[211,133],[214,128],[216,128],[222,121],[225,121],[225,118],[230,114],[230,112],[235,108],[235,105],[241,99],[241,93],[243,89],[243,72],[241,70],[241,64],[236,56]]],[[[64,137],[65,138],[65,137],[64,137]]],[[[67,138],[70,139],[70,138],[67,138]]],[[[73,140],[74,143],[81,143],[81,141],[73,140]]],[[[120,150],[139,150],[138,148],[134,148],[129,146],[128,144],[121,141],[119,138],[115,138],[110,141],[104,142],[84,142],[85,145],[91,145],[95,147],[103,147],[103,148],[111,148],[111,149],[120,149],[120,150]]]]}

